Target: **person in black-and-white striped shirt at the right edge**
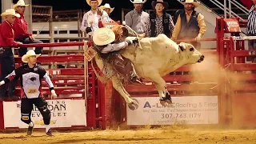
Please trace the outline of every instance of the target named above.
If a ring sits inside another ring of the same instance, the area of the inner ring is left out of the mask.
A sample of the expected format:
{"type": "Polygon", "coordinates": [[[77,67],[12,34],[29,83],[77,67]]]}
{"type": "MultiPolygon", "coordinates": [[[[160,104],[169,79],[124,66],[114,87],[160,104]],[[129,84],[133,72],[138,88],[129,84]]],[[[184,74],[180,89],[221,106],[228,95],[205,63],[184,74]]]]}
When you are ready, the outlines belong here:
{"type": "MultiPolygon", "coordinates": [[[[253,6],[250,7],[247,33],[249,36],[256,36],[256,0],[252,0],[253,6]]],[[[249,50],[256,50],[256,40],[249,41],[249,50]]],[[[249,61],[256,62],[256,58],[249,57],[249,61]]]]}

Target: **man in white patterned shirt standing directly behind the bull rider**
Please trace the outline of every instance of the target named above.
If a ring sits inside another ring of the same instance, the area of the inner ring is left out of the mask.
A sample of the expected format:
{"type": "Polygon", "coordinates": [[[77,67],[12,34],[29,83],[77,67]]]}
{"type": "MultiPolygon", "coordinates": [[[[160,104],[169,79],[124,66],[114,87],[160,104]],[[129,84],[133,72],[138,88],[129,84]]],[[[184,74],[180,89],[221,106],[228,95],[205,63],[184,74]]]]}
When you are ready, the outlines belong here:
{"type": "Polygon", "coordinates": [[[86,0],[91,7],[90,11],[83,15],[80,30],[91,36],[95,30],[98,30],[98,22],[109,22],[109,16],[106,11],[100,10],[98,6],[102,4],[102,0],[86,0]]]}

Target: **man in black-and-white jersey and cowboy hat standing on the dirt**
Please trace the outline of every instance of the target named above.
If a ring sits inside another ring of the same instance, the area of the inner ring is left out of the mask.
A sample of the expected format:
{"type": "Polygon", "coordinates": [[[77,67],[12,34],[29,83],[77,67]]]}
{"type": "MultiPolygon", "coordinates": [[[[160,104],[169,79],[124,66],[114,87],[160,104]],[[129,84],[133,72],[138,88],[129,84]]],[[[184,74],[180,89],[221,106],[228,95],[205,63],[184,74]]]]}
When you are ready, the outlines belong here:
{"type": "Polygon", "coordinates": [[[30,118],[34,104],[42,114],[44,124],[46,125],[46,134],[52,136],[53,134],[50,130],[50,110],[48,109],[47,102],[42,98],[41,93],[42,78],[50,87],[51,96],[56,97],[57,95],[46,70],[42,66],[37,65],[37,58],[40,55],[41,54],[35,54],[34,50],[28,50],[26,54],[22,56],[22,62],[27,64],[18,67],[18,69],[10,73],[0,82],[0,86],[10,82],[12,79],[18,80],[18,78],[20,78],[22,87],[21,120],[28,125],[27,135],[31,135],[34,128],[34,122],[32,122],[30,118]]]}

